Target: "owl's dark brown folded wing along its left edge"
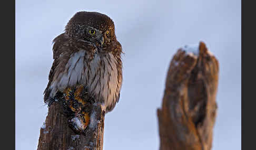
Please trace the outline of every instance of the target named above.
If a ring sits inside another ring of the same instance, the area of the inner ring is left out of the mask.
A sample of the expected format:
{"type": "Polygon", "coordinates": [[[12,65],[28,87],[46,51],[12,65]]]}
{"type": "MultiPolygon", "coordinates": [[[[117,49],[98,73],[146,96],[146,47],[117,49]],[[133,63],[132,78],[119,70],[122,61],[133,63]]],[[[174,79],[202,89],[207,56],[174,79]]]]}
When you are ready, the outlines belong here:
{"type": "Polygon", "coordinates": [[[54,72],[55,72],[55,69],[56,67],[58,66],[59,64],[59,57],[61,55],[62,52],[64,52],[64,49],[61,48],[61,45],[67,41],[67,38],[65,38],[64,34],[61,34],[59,36],[57,36],[53,42],[54,42],[54,45],[53,45],[53,65],[52,65],[52,68],[50,70],[50,73],[49,73],[49,76],[48,76],[48,84],[47,84],[47,87],[46,89],[44,90],[44,102],[45,103],[48,103],[49,101],[49,97],[50,97],[50,93],[51,93],[51,89],[50,89],[50,85],[53,81],[53,77],[54,77],[54,72]]]}

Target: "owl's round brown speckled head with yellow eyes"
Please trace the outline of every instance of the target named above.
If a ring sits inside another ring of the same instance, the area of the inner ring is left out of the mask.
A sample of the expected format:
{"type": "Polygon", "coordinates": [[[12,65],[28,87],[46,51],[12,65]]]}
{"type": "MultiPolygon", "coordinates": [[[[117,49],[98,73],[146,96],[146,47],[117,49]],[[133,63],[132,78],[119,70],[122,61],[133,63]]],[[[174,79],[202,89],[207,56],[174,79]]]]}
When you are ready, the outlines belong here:
{"type": "Polygon", "coordinates": [[[67,23],[69,38],[84,40],[104,47],[116,40],[114,23],[110,17],[97,12],[78,12],[67,23]]]}

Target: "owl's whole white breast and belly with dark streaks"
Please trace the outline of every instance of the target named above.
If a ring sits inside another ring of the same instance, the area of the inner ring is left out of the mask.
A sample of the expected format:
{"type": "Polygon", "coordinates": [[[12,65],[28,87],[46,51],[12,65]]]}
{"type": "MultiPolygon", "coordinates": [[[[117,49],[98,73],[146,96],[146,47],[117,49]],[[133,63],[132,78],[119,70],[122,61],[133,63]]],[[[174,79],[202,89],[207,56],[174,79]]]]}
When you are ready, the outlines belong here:
{"type": "Polygon", "coordinates": [[[95,53],[92,59],[88,59],[85,50],[73,53],[63,72],[51,84],[52,96],[57,91],[83,84],[97,101],[104,102],[106,108],[112,107],[119,99],[122,82],[117,67],[112,53],[104,56],[95,53]]]}

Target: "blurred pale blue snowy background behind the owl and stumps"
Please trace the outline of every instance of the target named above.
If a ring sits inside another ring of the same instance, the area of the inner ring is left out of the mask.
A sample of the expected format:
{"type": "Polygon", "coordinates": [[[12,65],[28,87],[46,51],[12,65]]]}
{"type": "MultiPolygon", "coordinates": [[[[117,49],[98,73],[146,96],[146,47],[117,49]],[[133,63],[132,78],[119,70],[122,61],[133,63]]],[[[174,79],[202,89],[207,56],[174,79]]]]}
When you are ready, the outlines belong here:
{"type": "Polygon", "coordinates": [[[52,40],[78,11],[109,15],[123,56],[123,87],[105,117],[104,149],[159,149],[156,109],[179,47],[200,40],[220,62],[213,149],[241,149],[241,1],[16,1],[16,149],[36,149],[52,40]]]}

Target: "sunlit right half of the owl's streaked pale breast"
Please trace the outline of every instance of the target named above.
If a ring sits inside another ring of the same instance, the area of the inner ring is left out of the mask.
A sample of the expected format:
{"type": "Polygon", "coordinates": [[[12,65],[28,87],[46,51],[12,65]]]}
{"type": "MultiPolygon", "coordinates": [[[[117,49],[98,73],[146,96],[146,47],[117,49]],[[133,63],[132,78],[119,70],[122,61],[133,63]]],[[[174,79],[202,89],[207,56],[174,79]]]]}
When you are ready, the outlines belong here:
{"type": "Polygon", "coordinates": [[[97,100],[104,101],[106,108],[111,107],[119,99],[121,90],[116,58],[112,53],[105,56],[95,54],[86,65],[82,82],[97,100]]]}

